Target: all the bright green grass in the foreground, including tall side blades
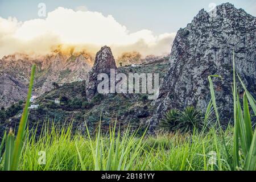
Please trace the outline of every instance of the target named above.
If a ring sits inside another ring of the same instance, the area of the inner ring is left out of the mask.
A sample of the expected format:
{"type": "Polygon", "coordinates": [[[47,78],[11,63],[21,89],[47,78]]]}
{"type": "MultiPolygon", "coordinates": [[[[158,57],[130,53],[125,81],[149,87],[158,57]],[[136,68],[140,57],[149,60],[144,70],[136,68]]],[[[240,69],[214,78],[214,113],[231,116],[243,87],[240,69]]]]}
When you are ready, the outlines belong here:
{"type": "Polygon", "coordinates": [[[255,170],[256,131],[251,126],[251,112],[256,115],[256,101],[235,71],[233,58],[233,126],[222,130],[212,77],[209,76],[212,99],[204,122],[216,115],[216,127],[181,134],[179,131],[157,136],[138,137],[137,131],[120,131],[115,123],[103,134],[99,125],[95,135],[72,134],[68,127],[46,123],[37,138],[36,129],[25,130],[34,70],[32,68],[28,100],[20,120],[16,138],[13,131],[1,142],[0,169],[3,170],[255,170]],[[242,104],[236,78],[245,90],[242,104]],[[5,143],[5,152],[4,150],[5,143]],[[39,163],[40,154],[45,163],[39,163]]]}

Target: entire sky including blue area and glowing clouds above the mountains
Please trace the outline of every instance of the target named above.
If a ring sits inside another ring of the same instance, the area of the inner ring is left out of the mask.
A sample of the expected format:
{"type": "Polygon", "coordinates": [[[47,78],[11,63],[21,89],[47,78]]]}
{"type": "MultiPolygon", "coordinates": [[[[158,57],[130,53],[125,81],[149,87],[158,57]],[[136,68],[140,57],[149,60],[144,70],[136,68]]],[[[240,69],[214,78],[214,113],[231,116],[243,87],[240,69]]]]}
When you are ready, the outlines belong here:
{"type": "Polygon", "coordinates": [[[43,54],[60,44],[91,52],[108,44],[115,55],[170,53],[179,28],[199,10],[224,2],[256,16],[256,0],[0,0],[0,59],[15,52],[43,54]],[[40,3],[46,16],[38,15],[40,3]]]}

